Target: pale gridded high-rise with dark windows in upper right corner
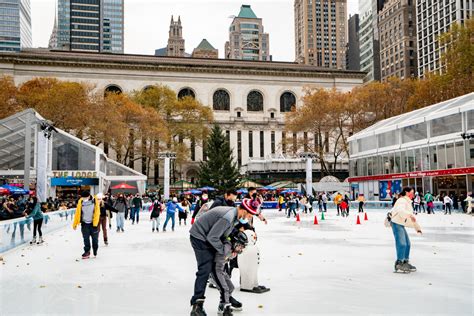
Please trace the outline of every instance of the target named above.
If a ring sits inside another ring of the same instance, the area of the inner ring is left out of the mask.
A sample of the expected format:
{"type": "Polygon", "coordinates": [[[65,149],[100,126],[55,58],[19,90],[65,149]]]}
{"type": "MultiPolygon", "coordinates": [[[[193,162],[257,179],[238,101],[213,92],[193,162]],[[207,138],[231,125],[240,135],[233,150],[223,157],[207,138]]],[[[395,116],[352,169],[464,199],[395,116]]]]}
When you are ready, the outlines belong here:
{"type": "Polygon", "coordinates": [[[439,71],[442,68],[437,37],[449,31],[453,23],[462,24],[474,14],[472,0],[416,1],[416,30],[418,44],[418,75],[439,71]]]}

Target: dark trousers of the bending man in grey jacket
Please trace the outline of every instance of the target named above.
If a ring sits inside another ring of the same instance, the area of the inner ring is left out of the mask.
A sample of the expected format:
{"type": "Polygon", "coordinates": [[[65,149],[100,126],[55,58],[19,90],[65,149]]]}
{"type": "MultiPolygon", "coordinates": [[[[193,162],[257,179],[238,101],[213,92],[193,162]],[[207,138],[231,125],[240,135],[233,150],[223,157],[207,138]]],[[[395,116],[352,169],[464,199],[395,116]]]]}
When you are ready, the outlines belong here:
{"type": "Polygon", "coordinates": [[[214,266],[216,250],[208,242],[199,240],[191,236],[191,246],[194,250],[197,262],[196,281],[194,282],[194,295],[191,298],[191,305],[196,304],[198,299],[205,299],[207,279],[214,266]]]}

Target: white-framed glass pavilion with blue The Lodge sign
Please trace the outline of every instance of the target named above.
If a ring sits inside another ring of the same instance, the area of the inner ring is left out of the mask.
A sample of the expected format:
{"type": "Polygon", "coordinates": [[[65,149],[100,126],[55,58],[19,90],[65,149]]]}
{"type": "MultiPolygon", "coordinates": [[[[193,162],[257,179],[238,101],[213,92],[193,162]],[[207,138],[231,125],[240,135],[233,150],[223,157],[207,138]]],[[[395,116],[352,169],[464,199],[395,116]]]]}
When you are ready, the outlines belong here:
{"type": "Polygon", "coordinates": [[[55,128],[33,109],[0,120],[0,180],[21,185],[40,201],[77,196],[81,190],[105,193],[116,183],[143,194],[146,185],[145,175],[55,128]]]}

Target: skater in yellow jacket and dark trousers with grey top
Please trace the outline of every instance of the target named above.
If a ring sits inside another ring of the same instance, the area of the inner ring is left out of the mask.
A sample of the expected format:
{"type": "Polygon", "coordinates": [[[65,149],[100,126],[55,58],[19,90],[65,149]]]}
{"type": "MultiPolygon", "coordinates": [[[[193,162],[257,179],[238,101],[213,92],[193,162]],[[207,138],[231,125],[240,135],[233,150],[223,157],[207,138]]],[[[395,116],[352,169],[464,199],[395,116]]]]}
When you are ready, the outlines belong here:
{"type": "Polygon", "coordinates": [[[75,230],[81,224],[82,238],[84,239],[84,253],[82,259],[89,259],[92,251],[97,256],[99,249],[99,220],[100,220],[100,203],[99,199],[91,196],[89,191],[81,192],[81,198],[77,203],[76,213],[72,228],[75,230]]]}

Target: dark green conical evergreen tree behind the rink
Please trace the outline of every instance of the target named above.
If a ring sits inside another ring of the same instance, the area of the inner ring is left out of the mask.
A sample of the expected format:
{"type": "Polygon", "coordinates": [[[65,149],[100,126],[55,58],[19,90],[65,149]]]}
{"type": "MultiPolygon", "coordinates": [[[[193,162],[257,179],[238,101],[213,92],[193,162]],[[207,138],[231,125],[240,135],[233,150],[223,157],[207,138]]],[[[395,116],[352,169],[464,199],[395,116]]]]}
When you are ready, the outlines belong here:
{"type": "Polygon", "coordinates": [[[232,157],[229,142],[218,125],[212,128],[204,153],[207,161],[199,165],[199,184],[219,191],[235,188],[239,183],[239,168],[232,157]]]}

